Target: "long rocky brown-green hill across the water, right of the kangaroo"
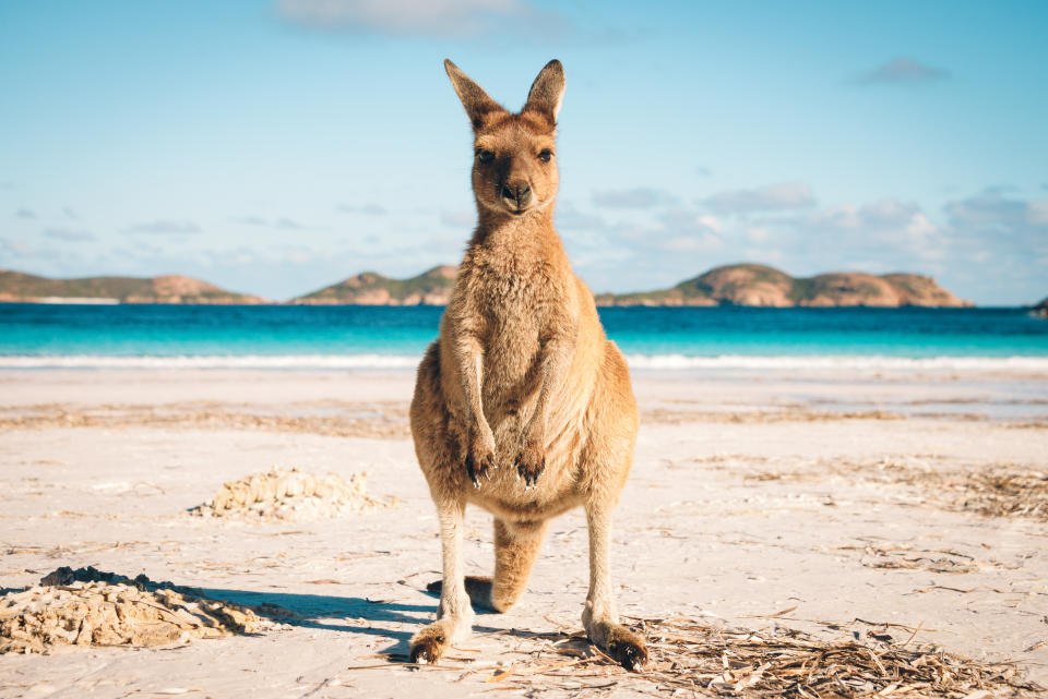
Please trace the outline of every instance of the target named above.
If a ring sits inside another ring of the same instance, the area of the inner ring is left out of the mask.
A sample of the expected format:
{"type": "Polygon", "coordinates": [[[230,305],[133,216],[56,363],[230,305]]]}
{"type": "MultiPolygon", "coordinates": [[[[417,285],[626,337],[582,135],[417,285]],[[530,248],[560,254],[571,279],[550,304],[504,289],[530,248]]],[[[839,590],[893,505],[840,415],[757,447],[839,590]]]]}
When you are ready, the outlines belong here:
{"type": "Polygon", "coordinates": [[[597,305],[945,306],[972,305],[915,274],[836,272],[795,278],[764,265],[715,267],[671,289],[597,297],[597,305]]]}

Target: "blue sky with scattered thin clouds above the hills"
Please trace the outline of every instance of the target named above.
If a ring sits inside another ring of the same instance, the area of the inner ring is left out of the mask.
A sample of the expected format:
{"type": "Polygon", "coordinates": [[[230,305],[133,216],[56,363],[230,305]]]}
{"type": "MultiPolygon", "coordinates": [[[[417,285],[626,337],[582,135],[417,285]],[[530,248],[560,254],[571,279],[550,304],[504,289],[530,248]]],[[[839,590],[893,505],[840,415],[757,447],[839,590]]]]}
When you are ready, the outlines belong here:
{"type": "Polygon", "coordinates": [[[762,262],[1048,294],[1048,3],[0,4],[0,268],[285,299],[458,261],[454,60],[568,74],[558,229],[596,291],[762,262]]]}

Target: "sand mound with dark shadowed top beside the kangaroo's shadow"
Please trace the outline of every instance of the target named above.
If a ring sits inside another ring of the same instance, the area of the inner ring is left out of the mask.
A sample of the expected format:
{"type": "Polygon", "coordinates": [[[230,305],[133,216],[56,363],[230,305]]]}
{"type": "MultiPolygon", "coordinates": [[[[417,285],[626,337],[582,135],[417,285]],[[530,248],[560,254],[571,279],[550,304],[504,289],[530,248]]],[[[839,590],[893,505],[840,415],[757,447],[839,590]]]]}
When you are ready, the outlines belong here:
{"type": "Polygon", "coordinates": [[[0,596],[0,653],[56,646],[167,646],[269,625],[248,607],[210,600],[170,582],[95,568],[59,568],[40,583],[0,596]]]}

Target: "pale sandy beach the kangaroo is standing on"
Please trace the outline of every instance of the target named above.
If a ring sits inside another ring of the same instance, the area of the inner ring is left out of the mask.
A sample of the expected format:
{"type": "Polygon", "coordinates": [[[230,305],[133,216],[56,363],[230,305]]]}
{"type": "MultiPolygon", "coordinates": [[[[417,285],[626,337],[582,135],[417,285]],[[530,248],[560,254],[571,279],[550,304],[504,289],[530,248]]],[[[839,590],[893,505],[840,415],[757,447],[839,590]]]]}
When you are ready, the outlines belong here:
{"type": "MultiPolygon", "coordinates": [[[[382,370],[0,371],[0,586],[94,566],[287,612],[254,634],[190,643],[8,653],[0,694],[669,696],[654,676],[553,667],[565,658],[557,635],[582,628],[580,511],[550,527],[516,607],[478,615],[477,636],[436,667],[397,664],[433,618],[426,584],[440,577],[407,423],[413,381],[382,370]],[[367,472],[383,506],[307,521],[188,513],[274,467],[367,472]]],[[[886,636],[1014,662],[1048,685],[1048,372],[634,369],[633,383],[641,432],[612,537],[627,623],[886,636]]],[[[471,574],[490,574],[490,517],[474,508],[465,558],[471,574]]]]}

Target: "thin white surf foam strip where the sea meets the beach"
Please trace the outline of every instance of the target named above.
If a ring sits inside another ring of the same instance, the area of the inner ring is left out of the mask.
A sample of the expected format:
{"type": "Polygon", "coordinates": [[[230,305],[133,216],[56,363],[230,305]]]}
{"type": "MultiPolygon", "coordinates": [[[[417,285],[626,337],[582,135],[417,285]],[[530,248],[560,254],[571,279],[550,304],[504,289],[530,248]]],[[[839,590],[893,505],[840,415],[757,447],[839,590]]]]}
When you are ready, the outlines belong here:
{"type": "MultiPolygon", "coordinates": [[[[106,357],[92,354],[0,357],[0,369],[385,369],[409,370],[419,357],[390,354],[282,354],[282,355],[182,355],[106,357]]],[[[1048,372],[1048,357],[686,357],[683,354],[632,354],[636,370],[921,370],[1048,372]]]]}

